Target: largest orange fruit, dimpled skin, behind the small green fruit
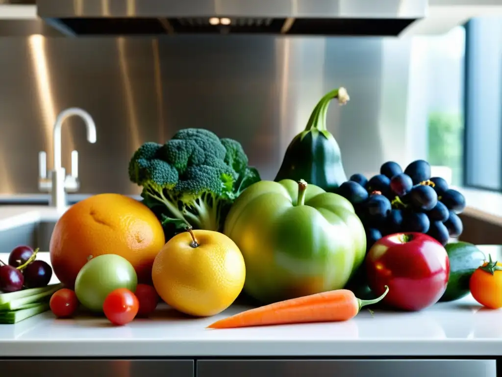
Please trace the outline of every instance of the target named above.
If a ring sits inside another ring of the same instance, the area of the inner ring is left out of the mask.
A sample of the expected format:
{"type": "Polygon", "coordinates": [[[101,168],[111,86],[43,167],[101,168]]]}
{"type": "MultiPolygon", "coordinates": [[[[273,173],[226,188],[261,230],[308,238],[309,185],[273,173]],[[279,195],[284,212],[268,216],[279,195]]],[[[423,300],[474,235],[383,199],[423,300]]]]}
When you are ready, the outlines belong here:
{"type": "Polygon", "coordinates": [[[49,246],[52,269],[73,288],[89,256],[117,254],[151,282],[152,264],[165,244],[157,217],[144,204],[119,194],[99,194],[71,206],[57,221],[49,246]]]}

